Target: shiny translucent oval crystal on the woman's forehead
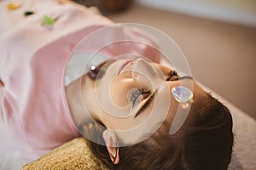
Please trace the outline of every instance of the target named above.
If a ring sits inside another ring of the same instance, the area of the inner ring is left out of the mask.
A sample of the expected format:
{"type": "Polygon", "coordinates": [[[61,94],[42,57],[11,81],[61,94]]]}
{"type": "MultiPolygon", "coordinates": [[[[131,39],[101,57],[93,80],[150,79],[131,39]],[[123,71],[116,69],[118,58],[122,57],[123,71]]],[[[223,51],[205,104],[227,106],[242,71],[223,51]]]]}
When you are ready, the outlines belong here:
{"type": "Polygon", "coordinates": [[[176,86],[172,88],[172,95],[178,102],[186,102],[193,98],[193,93],[189,88],[176,86]]]}

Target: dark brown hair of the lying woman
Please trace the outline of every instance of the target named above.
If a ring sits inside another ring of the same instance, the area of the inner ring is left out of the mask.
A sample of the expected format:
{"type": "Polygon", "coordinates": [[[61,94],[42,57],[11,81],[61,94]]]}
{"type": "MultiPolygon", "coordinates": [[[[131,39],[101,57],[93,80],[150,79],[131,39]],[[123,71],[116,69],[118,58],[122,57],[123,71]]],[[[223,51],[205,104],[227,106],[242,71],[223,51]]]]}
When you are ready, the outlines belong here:
{"type": "Polygon", "coordinates": [[[118,165],[106,146],[89,141],[90,149],[109,169],[227,169],[233,146],[230,111],[209,94],[191,106],[187,120],[177,133],[170,135],[164,122],[143,142],[119,148],[118,165]]]}

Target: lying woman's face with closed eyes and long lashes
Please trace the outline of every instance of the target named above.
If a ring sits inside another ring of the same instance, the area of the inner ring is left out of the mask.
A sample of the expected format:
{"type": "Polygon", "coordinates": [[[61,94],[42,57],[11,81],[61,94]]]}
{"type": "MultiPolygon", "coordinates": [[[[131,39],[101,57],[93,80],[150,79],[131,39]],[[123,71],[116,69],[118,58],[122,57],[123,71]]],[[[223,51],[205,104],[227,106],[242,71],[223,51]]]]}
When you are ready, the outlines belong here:
{"type": "Polygon", "coordinates": [[[135,140],[159,122],[172,123],[179,105],[172,95],[173,87],[194,88],[193,100],[206,95],[190,78],[179,80],[176,74],[170,75],[172,69],[146,59],[119,59],[102,69],[102,77],[92,87],[96,97],[92,110],[108,129],[141,132],[137,137],[132,133],[135,140]]]}

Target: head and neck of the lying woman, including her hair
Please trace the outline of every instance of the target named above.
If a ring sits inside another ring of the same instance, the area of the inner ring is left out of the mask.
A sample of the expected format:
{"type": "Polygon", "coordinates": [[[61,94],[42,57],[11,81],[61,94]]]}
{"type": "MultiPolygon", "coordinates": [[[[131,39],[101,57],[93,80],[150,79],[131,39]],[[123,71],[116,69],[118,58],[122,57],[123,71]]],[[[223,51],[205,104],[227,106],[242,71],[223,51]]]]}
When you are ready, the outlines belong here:
{"type": "MultiPolygon", "coordinates": [[[[74,120],[76,116],[79,117],[76,115],[79,111],[78,107],[73,108],[73,105],[77,105],[82,95],[87,111],[106,127],[82,127],[85,133],[92,132],[96,138],[102,136],[106,146],[97,144],[98,140],[89,142],[91,150],[99,160],[111,169],[227,169],[233,144],[230,112],[191,77],[178,77],[172,69],[142,58],[130,59],[128,64],[127,59],[116,60],[104,70],[98,79],[88,74],[67,88],[67,99],[74,113],[74,120]],[[135,67],[143,68],[137,76],[133,72],[135,67]],[[159,70],[164,77],[157,73],[159,70]],[[150,86],[152,82],[147,82],[144,78],[145,75],[156,82],[157,92],[150,86]],[[112,80],[110,84],[106,83],[109,79],[112,80]],[[184,82],[193,83],[193,102],[183,126],[176,133],[170,134],[174,117],[176,114],[183,114],[177,111],[180,103],[175,99],[175,95],[172,95],[172,89],[187,84],[184,82]],[[77,88],[76,83],[81,83],[81,89],[77,88]],[[131,116],[128,114],[129,116],[123,117],[121,113],[110,115],[97,103],[99,99],[96,99],[96,88],[109,89],[109,99],[119,107],[134,105],[133,97],[138,93],[131,92],[131,89],[138,89],[140,93],[136,105],[139,105],[139,109],[131,116]],[[129,95],[127,97],[129,92],[134,93],[130,98],[129,95]],[[146,120],[154,115],[154,107],[157,107],[155,100],[165,102],[166,100],[161,99],[166,99],[167,94],[171,94],[167,115],[163,110],[157,110],[154,122],[148,123],[146,120]],[[143,111],[140,110],[142,107],[143,111]],[[165,115],[164,120],[161,115],[165,115]],[[141,124],[145,125],[145,128],[138,127],[141,124]],[[154,131],[154,126],[159,124],[160,127],[154,131]],[[119,130],[123,132],[131,128],[136,130],[133,133],[119,133],[119,130]]],[[[77,125],[83,125],[80,117],[77,120],[77,125]]]]}

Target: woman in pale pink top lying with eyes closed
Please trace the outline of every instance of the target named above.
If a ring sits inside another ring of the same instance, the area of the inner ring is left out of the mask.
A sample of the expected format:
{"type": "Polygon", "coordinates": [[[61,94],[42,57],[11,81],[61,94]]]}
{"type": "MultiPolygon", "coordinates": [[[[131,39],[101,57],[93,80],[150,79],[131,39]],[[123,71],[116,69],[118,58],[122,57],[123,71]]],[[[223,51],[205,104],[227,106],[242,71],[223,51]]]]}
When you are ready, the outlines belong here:
{"type": "MultiPolygon", "coordinates": [[[[127,42],[119,50],[109,46],[108,56],[136,52],[144,59],[109,59],[101,65],[102,71],[91,68],[82,78],[66,83],[64,73],[73,48],[83,37],[113,22],[62,1],[1,1],[0,11],[2,167],[35,160],[81,135],[78,129],[86,136],[90,129],[84,124],[93,119],[102,132],[96,138],[102,142],[90,142],[91,149],[108,167],[227,168],[233,144],[230,112],[191,77],[178,77],[160,65],[152,46],[127,42]],[[178,101],[173,92],[177,87],[188,88],[188,99],[178,101]],[[109,101],[112,105],[106,105],[109,101]],[[186,105],[180,108],[181,104],[188,104],[190,110],[186,105]],[[84,108],[89,113],[85,116],[84,108]],[[183,109],[189,111],[188,117],[170,133],[183,109]]],[[[124,32],[98,38],[108,42],[126,36],[124,32]]],[[[149,37],[135,37],[153,43],[149,37]]],[[[95,47],[93,42],[89,44],[95,47]]]]}

